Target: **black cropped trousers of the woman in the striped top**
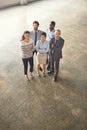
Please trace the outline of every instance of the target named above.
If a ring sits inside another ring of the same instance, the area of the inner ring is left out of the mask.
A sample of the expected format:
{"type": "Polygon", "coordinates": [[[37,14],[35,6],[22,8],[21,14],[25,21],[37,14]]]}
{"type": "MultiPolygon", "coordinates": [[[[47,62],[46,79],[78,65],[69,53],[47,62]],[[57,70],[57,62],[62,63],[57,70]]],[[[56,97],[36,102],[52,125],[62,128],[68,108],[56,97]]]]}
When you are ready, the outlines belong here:
{"type": "Polygon", "coordinates": [[[27,75],[28,63],[30,65],[30,72],[33,72],[33,57],[22,59],[24,65],[24,74],[27,75]]]}

